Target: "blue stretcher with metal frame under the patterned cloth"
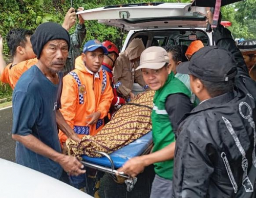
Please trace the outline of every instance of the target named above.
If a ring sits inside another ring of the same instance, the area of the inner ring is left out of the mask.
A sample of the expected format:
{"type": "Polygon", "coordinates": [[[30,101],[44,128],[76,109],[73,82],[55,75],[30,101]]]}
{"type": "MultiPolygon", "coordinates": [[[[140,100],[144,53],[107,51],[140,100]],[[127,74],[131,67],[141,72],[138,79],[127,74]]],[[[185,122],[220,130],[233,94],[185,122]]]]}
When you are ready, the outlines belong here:
{"type": "MultiPolygon", "coordinates": [[[[97,169],[103,172],[108,172],[110,174],[116,175],[117,169],[122,167],[123,164],[131,158],[136,156],[141,156],[149,153],[153,146],[152,140],[152,131],[142,136],[138,140],[126,145],[114,152],[110,155],[104,152],[98,152],[102,156],[101,158],[90,158],[88,156],[82,157],[82,164],[86,167],[97,169]]],[[[129,175],[124,174],[123,172],[119,172],[119,176],[126,178],[126,190],[132,191],[134,185],[137,182],[137,178],[132,178],[129,175]]]]}

